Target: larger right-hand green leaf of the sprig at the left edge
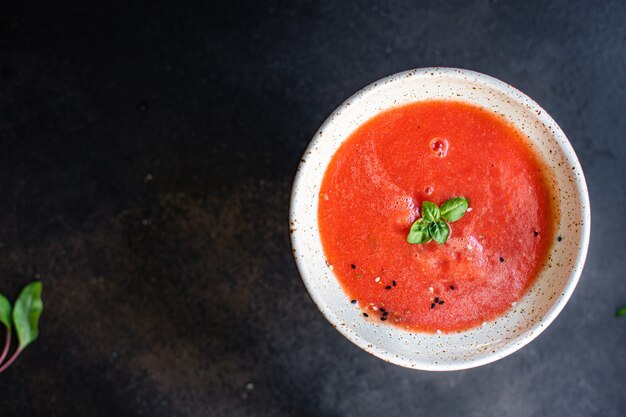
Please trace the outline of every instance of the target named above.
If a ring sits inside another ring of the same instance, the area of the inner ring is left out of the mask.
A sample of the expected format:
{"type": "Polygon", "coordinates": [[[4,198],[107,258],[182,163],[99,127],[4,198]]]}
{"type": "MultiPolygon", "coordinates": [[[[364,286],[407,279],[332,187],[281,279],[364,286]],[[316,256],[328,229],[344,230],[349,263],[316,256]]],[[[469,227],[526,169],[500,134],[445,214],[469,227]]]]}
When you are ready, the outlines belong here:
{"type": "Polygon", "coordinates": [[[39,336],[39,316],[43,311],[41,301],[41,281],[28,284],[15,301],[13,307],[13,324],[19,340],[20,350],[31,344],[39,336]]]}

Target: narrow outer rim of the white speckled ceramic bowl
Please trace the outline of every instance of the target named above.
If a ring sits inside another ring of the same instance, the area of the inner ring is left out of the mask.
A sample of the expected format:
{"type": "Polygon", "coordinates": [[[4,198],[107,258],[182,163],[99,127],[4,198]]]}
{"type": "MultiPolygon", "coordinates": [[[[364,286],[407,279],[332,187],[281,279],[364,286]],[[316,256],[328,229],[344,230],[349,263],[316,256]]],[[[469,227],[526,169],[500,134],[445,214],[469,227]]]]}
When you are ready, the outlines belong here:
{"type": "MultiPolygon", "coordinates": [[[[419,369],[419,370],[427,370],[427,371],[455,371],[462,370],[468,368],[474,368],[477,366],[482,366],[489,364],[491,362],[495,362],[499,359],[502,359],[522,347],[526,346],[528,343],[537,338],[561,313],[569,299],[571,298],[578,281],[580,280],[580,276],[583,271],[583,267],[585,264],[585,260],[587,258],[587,252],[589,249],[589,237],[591,233],[591,207],[589,202],[589,191],[587,188],[587,182],[585,180],[584,172],[582,170],[582,166],[580,165],[580,161],[574,151],[571,142],[561,129],[561,127],[556,123],[556,121],[545,111],[537,102],[528,97],[526,94],[511,86],[510,84],[501,81],[492,76],[462,69],[462,68],[453,68],[453,67],[424,67],[424,68],[415,68],[402,72],[398,72],[387,77],[376,80],[365,87],[358,90],[356,93],[348,97],[344,100],[339,106],[337,106],[333,112],[324,120],[324,122],[317,129],[313,138],[309,142],[307,148],[304,151],[303,155],[308,155],[312,152],[315,152],[315,148],[318,142],[322,139],[319,134],[321,131],[326,130],[326,127],[333,121],[335,117],[337,117],[347,106],[354,104],[369,93],[371,90],[375,88],[380,88],[383,85],[393,84],[395,82],[399,82],[407,76],[412,77],[421,77],[425,76],[429,73],[436,72],[440,76],[444,76],[445,78],[467,78],[471,77],[473,82],[478,82],[480,84],[485,85],[486,87],[493,88],[498,92],[505,94],[506,96],[514,99],[522,105],[525,105],[530,110],[534,111],[537,115],[536,117],[548,128],[551,129],[553,133],[553,137],[560,136],[562,138],[562,142],[559,143],[559,146],[563,150],[564,154],[567,156],[568,162],[571,164],[572,168],[575,172],[579,174],[578,180],[576,181],[576,190],[578,192],[578,197],[580,199],[581,205],[581,219],[582,219],[582,227],[581,227],[581,237],[580,244],[578,248],[578,252],[576,254],[576,260],[571,268],[569,279],[564,286],[561,296],[559,296],[558,300],[546,311],[546,313],[531,327],[526,329],[526,331],[521,334],[518,338],[515,339],[515,343],[509,343],[505,347],[495,350],[493,353],[489,353],[482,357],[471,358],[464,362],[459,363],[419,363],[415,364],[413,361],[402,357],[401,355],[393,354],[390,351],[385,349],[376,348],[376,346],[368,344],[367,340],[365,340],[362,336],[360,336],[357,332],[348,331],[344,326],[340,326],[340,323],[335,322],[334,316],[331,314],[332,308],[328,308],[325,303],[323,303],[321,297],[318,297],[317,292],[312,287],[312,279],[307,273],[307,268],[304,265],[304,261],[302,257],[296,256],[296,252],[301,253],[302,248],[298,241],[299,233],[297,229],[294,233],[290,234],[291,246],[292,246],[292,255],[296,262],[296,266],[298,269],[298,273],[302,279],[302,282],[309,294],[309,297],[313,301],[313,304],[317,307],[317,309],[322,313],[322,315],[330,322],[330,324],[341,333],[344,337],[350,340],[352,343],[365,350],[366,352],[386,361],[396,365],[400,365],[403,367],[411,368],[411,369],[419,369]]],[[[301,189],[301,182],[303,180],[303,165],[304,162],[301,160],[298,164],[296,174],[293,180],[293,184],[291,187],[291,197],[289,202],[289,222],[293,224],[295,219],[297,218],[298,213],[296,213],[296,201],[298,199],[298,190],[301,189]]]]}

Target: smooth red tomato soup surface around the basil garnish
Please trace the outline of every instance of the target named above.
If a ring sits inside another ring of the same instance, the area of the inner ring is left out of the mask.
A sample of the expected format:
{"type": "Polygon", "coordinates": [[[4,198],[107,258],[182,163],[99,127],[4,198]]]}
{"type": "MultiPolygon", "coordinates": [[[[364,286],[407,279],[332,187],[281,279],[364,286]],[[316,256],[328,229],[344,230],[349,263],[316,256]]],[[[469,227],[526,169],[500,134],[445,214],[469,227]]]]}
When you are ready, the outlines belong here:
{"type": "Polygon", "coordinates": [[[385,111],[333,156],[318,222],[326,259],[371,320],[460,331],[511,308],[554,239],[553,192],[524,135],[456,101],[385,111]],[[409,244],[424,200],[463,196],[445,244],[409,244]]]}

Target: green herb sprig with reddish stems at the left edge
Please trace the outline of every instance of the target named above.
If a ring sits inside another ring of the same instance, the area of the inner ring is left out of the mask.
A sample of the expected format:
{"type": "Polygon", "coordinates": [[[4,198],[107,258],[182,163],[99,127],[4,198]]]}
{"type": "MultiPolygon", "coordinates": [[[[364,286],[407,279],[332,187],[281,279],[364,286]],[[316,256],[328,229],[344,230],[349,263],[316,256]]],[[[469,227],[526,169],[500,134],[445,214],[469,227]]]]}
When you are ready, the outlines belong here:
{"type": "Polygon", "coordinates": [[[0,373],[5,371],[39,336],[39,317],[43,311],[41,301],[41,281],[28,284],[17,297],[15,304],[11,307],[9,300],[0,294],[0,323],[6,327],[6,342],[2,353],[0,353],[0,373]],[[18,346],[4,364],[2,362],[7,357],[11,347],[11,333],[15,329],[18,346]]]}

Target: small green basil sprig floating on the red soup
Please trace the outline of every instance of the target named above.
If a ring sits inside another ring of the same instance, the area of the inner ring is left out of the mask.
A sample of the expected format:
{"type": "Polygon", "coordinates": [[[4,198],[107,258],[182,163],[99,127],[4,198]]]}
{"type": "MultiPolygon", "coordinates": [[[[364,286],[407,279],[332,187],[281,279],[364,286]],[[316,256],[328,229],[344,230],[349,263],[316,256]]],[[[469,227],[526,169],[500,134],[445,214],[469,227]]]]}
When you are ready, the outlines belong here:
{"type": "Polygon", "coordinates": [[[465,197],[451,198],[444,201],[441,207],[431,201],[423,201],[422,218],[417,219],[411,225],[406,241],[419,244],[428,243],[432,239],[440,245],[446,243],[450,237],[450,226],[448,223],[455,222],[463,217],[468,207],[469,201],[465,197]]]}

